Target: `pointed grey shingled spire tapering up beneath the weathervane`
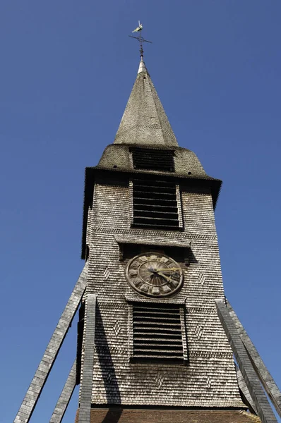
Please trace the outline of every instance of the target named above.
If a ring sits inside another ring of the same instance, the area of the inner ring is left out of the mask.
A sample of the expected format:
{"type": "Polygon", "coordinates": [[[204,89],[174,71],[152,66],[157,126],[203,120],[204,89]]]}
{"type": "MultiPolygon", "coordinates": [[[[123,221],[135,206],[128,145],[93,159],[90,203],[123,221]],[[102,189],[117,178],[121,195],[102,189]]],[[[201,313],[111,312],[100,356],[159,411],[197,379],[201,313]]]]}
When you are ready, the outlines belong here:
{"type": "Polygon", "coordinates": [[[114,143],[178,147],[177,139],[143,59],[140,61],[136,81],[114,143]]]}

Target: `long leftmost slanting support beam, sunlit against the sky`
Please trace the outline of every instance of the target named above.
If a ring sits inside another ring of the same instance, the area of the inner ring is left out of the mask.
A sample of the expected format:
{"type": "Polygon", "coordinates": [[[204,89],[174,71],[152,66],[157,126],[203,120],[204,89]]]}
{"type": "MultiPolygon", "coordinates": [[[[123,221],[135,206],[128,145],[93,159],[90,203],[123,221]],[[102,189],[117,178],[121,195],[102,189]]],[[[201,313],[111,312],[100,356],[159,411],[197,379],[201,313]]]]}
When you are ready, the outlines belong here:
{"type": "Polygon", "coordinates": [[[49,376],[49,372],[52,369],[56,356],[59,353],[66,333],[71,325],[71,321],[78,309],[78,305],[87,284],[87,270],[88,266],[85,265],[78,278],[76,286],[71,293],[71,297],[66,304],[64,312],[61,314],[59,323],[56,325],[56,329],[52,334],[52,338],[47,345],[44,356],[35,372],[28,391],[25,394],[25,398],[23,398],[23,403],[20,405],[20,409],[18,410],[18,414],[16,415],[16,419],[14,419],[13,423],[28,423],[30,421],[30,417],[32,416],[37,400],[40,397],[44,384],[49,376]]]}

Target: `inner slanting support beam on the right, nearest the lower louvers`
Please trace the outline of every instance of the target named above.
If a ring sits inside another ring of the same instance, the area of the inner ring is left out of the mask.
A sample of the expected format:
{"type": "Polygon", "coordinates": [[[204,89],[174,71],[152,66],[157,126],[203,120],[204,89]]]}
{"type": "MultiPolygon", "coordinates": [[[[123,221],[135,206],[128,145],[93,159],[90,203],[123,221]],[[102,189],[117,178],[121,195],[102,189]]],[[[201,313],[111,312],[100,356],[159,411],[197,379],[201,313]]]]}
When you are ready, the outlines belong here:
{"type": "Polygon", "coordinates": [[[277,423],[277,419],[273,413],[270,403],[268,402],[265,391],[263,391],[263,387],[261,386],[261,382],[258,379],[251,360],[249,359],[244,343],[241,341],[234,321],[229,314],[227,306],[225,305],[225,300],[217,300],[215,304],[217,306],[217,314],[220,317],[223,328],[225,329],[234,357],[237,360],[243,379],[251,394],[251,398],[253,398],[253,403],[258,412],[258,417],[260,417],[263,423],[277,423]]]}

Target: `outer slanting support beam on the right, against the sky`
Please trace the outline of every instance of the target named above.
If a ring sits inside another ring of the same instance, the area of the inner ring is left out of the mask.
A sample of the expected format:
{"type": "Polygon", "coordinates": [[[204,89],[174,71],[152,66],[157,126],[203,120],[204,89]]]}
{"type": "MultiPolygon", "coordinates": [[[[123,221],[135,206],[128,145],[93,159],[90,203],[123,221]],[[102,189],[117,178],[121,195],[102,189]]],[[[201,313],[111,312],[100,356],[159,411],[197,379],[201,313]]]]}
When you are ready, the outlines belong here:
{"type": "Polygon", "coordinates": [[[244,343],[244,347],[246,348],[250,360],[253,364],[256,373],[258,374],[258,378],[265,389],[265,392],[268,394],[270,401],[273,403],[275,410],[277,411],[278,415],[281,417],[281,392],[278,386],[275,384],[273,380],[273,376],[271,376],[268,369],[265,367],[263,360],[261,360],[261,356],[258,354],[255,345],[253,345],[251,339],[249,338],[248,333],[246,333],[241,321],[239,321],[237,314],[234,312],[234,309],[230,305],[229,301],[227,300],[227,309],[229,311],[232,320],[234,321],[235,327],[237,332],[240,335],[242,342],[244,343]]]}

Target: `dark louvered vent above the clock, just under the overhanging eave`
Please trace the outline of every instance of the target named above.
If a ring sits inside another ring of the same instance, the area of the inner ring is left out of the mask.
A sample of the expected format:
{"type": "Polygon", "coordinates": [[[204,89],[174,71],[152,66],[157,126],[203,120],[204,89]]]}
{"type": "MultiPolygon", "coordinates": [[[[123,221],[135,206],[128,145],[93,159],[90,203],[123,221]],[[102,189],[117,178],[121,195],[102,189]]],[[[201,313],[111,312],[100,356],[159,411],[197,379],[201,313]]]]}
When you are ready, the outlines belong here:
{"type": "Polygon", "coordinates": [[[133,226],[179,228],[176,185],[164,180],[133,179],[133,226]]]}

